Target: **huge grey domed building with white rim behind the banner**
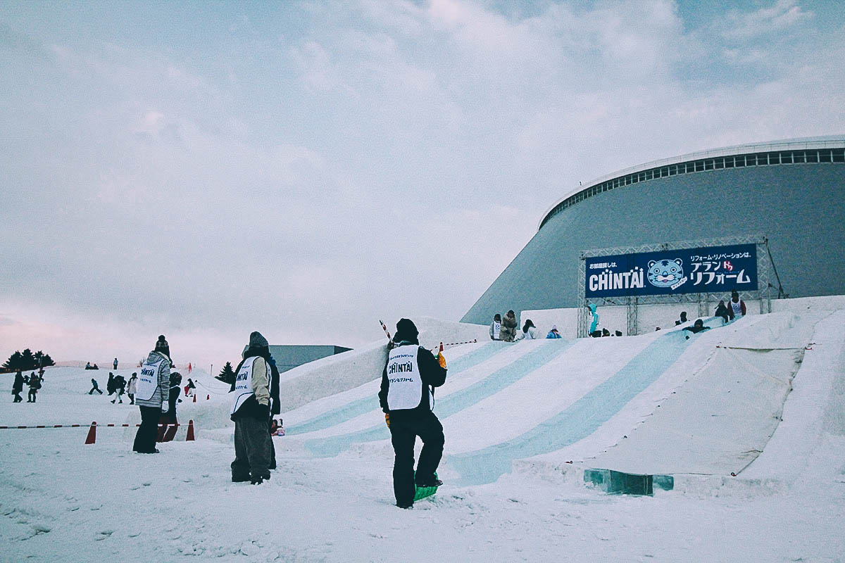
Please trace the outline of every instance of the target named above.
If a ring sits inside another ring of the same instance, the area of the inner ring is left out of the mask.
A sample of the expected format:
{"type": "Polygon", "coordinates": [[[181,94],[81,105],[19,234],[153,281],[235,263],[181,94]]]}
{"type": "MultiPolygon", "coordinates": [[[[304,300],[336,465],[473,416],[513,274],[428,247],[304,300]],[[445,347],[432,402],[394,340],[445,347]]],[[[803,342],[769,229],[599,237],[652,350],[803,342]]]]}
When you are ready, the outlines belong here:
{"type": "Polygon", "coordinates": [[[845,295],[845,135],[685,154],[575,187],[461,320],[578,306],[586,250],[758,234],[790,297],[845,295]]]}

